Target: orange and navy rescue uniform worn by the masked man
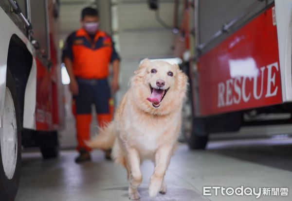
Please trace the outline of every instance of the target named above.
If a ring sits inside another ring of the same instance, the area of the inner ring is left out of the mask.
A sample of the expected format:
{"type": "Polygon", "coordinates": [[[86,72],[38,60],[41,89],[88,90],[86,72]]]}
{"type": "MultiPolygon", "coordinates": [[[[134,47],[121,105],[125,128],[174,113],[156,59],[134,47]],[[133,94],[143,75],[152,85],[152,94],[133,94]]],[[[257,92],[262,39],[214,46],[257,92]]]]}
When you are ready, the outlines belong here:
{"type": "Polygon", "coordinates": [[[73,96],[73,114],[76,118],[77,150],[91,151],[84,143],[90,138],[91,105],[95,105],[100,127],[111,121],[113,100],[110,97],[109,64],[120,60],[110,36],[102,31],[89,35],[80,29],[67,38],[62,58],[73,63],[73,74],[79,93],[73,96]]]}

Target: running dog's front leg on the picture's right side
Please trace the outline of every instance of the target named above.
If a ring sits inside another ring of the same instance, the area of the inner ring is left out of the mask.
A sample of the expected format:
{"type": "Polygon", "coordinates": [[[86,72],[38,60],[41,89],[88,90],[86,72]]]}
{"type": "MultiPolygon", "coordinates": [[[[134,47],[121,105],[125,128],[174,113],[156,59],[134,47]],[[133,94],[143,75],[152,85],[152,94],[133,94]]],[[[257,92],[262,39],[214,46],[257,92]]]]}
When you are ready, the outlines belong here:
{"type": "Polygon", "coordinates": [[[172,146],[163,146],[155,153],[155,168],[150,179],[149,196],[155,198],[163,187],[165,171],[168,168],[172,146]]]}

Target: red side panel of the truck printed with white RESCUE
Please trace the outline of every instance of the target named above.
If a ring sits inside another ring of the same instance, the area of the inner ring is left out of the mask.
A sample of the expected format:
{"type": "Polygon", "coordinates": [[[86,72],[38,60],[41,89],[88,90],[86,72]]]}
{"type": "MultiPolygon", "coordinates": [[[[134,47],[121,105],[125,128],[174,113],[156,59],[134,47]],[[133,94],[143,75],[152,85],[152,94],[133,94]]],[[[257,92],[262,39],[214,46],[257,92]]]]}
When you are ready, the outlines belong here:
{"type": "Polygon", "coordinates": [[[274,7],[199,59],[201,116],[282,103],[274,7]]]}

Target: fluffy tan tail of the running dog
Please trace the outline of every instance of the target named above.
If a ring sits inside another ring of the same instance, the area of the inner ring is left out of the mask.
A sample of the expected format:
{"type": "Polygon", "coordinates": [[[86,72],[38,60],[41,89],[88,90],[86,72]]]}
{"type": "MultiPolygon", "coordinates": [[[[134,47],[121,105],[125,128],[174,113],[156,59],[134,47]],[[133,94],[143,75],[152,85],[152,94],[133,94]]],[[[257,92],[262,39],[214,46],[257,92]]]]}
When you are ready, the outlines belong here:
{"type": "Polygon", "coordinates": [[[115,138],[114,122],[111,121],[106,127],[100,128],[95,137],[85,143],[93,149],[109,150],[113,147],[115,138]]]}

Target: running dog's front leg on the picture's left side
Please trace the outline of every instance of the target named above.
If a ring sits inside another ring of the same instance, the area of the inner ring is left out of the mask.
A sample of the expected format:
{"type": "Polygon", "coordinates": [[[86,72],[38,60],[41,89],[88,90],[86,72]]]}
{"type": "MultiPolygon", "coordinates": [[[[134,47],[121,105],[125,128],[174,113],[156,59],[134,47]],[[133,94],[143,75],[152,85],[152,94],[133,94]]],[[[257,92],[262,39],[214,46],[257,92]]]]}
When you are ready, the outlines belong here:
{"type": "Polygon", "coordinates": [[[128,166],[130,168],[130,186],[129,186],[129,198],[131,200],[140,199],[138,192],[138,186],[142,183],[142,173],[140,170],[140,155],[136,149],[128,150],[128,166]]]}

